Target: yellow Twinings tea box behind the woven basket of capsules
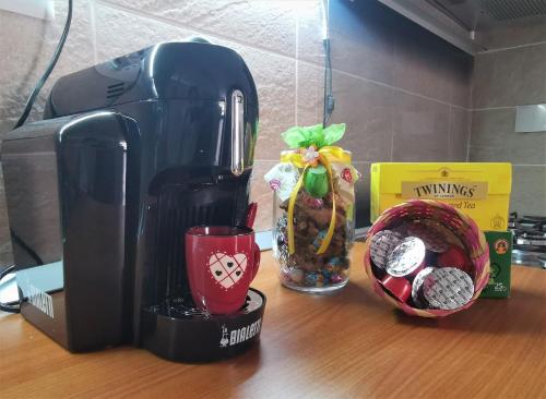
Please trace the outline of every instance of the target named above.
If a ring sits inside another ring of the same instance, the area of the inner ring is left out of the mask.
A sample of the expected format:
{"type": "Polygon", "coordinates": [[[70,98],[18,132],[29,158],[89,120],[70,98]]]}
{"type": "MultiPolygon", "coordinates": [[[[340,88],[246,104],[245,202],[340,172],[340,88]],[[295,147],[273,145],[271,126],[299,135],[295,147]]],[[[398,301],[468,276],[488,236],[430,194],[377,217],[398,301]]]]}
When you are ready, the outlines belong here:
{"type": "Polygon", "coordinates": [[[371,221],[407,200],[431,198],[453,205],[482,230],[506,231],[511,186],[510,164],[372,164],[371,221]]]}

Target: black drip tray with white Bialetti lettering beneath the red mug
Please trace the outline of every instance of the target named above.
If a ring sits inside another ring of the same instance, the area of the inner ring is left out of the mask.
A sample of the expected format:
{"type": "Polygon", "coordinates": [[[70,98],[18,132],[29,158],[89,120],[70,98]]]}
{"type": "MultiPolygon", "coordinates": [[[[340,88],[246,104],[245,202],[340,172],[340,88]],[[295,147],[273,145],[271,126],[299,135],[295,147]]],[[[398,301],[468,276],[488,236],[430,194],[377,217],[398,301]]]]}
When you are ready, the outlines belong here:
{"type": "Polygon", "coordinates": [[[244,352],[260,338],[265,295],[251,288],[236,313],[211,315],[191,299],[171,300],[142,311],[142,346],[173,361],[210,362],[244,352]]]}

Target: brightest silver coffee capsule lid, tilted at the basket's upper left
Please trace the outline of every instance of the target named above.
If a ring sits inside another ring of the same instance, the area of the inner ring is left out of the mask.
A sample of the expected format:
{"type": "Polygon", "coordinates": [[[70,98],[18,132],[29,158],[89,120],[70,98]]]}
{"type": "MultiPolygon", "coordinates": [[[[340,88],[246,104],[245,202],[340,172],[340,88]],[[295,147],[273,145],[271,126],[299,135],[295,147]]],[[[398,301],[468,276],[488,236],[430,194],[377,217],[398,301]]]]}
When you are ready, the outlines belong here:
{"type": "Polygon", "coordinates": [[[423,265],[425,255],[426,249],[423,240],[407,237],[389,254],[387,273],[394,277],[407,276],[423,265]]]}

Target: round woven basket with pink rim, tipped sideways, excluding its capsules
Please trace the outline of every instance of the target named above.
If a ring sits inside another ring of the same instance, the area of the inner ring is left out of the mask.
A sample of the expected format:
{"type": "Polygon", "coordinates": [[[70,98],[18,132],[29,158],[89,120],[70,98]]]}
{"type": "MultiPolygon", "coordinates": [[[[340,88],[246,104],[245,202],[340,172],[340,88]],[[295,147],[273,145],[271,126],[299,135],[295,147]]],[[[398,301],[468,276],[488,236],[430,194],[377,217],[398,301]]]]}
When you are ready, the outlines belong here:
{"type": "Polygon", "coordinates": [[[364,250],[364,267],[368,277],[371,280],[373,290],[387,302],[395,307],[401,309],[408,315],[423,317],[443,317],[449,314],[460,312],[472,306],[474,301],[479,297],[479,293],[489,280],[489,246],[486,242],[484,233],[479,230],[472,218],[459,211],[448,204],[442,204],[432,200],[412,200],[406,203],[393,206],[387,209],[371,226],[366,237],[364,250]],[[371,269],[370,243],[372,237],[381,230],[390,228],[393,223],[402,220],[423,220],[430,219],[441,223],[450,229],[464,244],[466,252],[472,261],[474,268],[474,295],[472,300],[464,306],[444,311],[435,309],[415,309],[406,303],[397,301],[391,297],[383,287],[379,283],[377,277],[371,269]]]}

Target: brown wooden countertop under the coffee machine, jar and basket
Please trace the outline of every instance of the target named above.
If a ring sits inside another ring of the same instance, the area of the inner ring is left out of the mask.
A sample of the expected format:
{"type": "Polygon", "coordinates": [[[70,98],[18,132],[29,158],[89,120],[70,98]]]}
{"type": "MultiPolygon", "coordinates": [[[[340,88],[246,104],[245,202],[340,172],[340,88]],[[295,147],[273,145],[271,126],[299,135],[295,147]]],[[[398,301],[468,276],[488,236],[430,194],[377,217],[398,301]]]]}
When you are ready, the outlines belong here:
{"type": "Polygon", "coordinates": [[[0,397],[546,398],[546,271],[514,267],[510,300],[444,319],[393,311],[353,252],[330,297],[282,288],[271,253],[261,342],[218,363],[173,363],[131,347],[71,354],[20,315],[0,316],[0,397]]]}

